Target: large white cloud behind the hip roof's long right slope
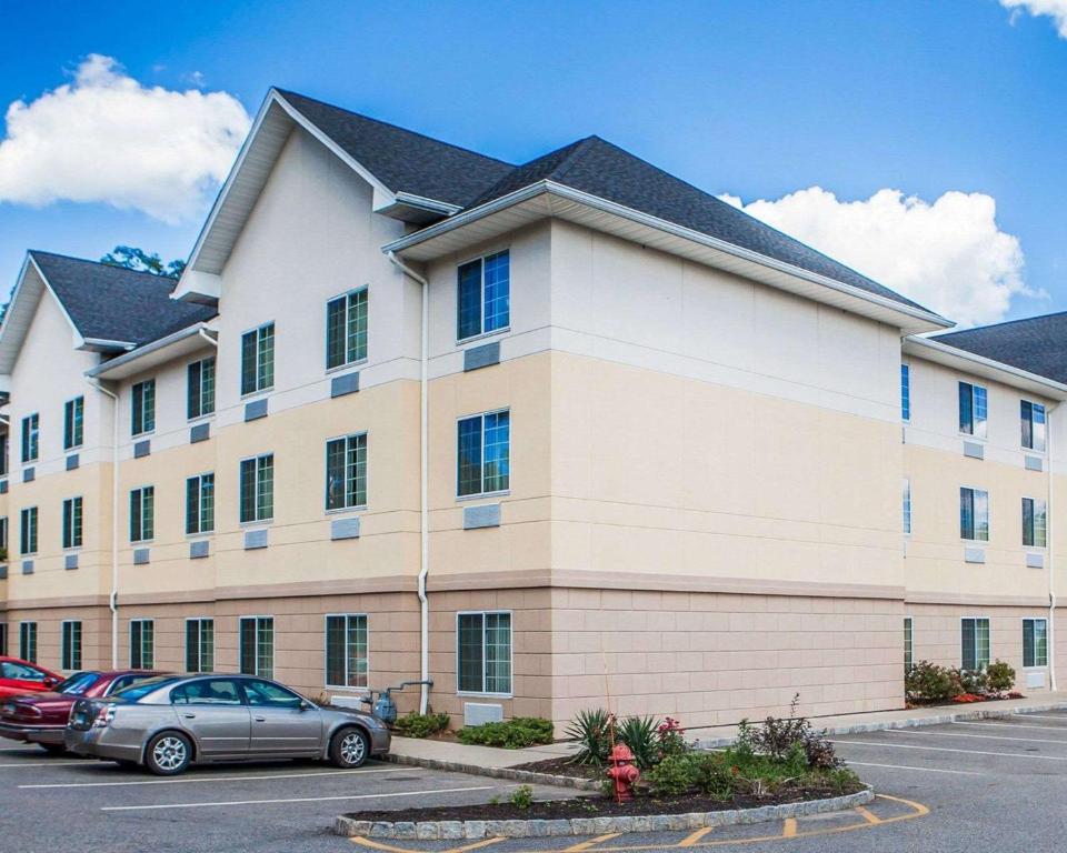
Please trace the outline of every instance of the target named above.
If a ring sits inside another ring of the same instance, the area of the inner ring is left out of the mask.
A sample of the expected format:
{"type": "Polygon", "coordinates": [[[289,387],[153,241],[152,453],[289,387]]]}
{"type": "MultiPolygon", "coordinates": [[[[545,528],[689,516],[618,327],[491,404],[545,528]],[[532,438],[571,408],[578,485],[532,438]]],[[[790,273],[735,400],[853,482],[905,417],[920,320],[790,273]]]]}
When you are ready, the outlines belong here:
{"type": "Polygon", "coordinates": [[[841,201],[819,187],[750,204],[721,198],[960,325],[996,322],[1014,295],[1035,295],[1018,239],[983,193],[946,192],[933,204],[899,190],[841,201]]]}

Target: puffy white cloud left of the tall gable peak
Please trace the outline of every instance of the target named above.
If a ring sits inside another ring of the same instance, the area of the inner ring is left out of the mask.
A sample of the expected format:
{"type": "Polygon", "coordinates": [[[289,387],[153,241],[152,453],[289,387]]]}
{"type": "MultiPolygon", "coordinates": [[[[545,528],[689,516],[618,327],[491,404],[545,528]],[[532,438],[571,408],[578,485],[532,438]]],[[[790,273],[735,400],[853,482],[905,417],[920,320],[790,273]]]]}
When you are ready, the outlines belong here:
{"type": "Polygon", "coordinates": [[[164,222],[195,219],[250,123],[227,92],[149,88],[93,53],[72,83],[8,108],[0,202],[102,202],[164,222]]]}

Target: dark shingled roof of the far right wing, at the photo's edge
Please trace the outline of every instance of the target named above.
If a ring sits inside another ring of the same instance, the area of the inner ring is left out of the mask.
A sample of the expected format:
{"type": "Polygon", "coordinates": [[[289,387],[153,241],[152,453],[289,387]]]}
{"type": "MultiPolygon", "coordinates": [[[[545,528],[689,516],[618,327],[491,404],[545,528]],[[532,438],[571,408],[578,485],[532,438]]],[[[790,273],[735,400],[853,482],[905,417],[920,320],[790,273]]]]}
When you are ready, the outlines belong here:
{"type": "Polygon", "coordinates": [[[937,334],[931,340],[1067,383],[1067,311],[937,334]]]}

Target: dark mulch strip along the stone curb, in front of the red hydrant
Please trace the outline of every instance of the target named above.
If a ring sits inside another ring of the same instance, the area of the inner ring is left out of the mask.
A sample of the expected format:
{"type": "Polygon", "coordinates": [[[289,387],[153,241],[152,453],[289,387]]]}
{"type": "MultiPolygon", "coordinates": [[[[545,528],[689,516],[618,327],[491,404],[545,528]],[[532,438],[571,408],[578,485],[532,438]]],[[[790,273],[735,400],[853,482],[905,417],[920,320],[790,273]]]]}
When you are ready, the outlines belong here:
{"type": "MultiPolygon", "coordinates": [[[[544,763],[544,762],[539,762],[544,763]]],[[[829,796],[854,794],[862,785],[841,791],[821,787],[797,787],[768,796],[735,796],[728,802],[711,800],[702,794],[688,794],[657,799],[650,795],[637,796],[626,803],[618,803],[607,796],[576,796],[570,800],[541,800],[527,809],[519,809],[509,802],[485,803],[482,805],[441,805],[429,809],[398,809],[396,811],[376,810],[372,812],[349,812],[346,817],[357,821],[555,821],[571,817],[626,817],[652,814],[688,814],[689,812],[717,812],[729,809],[758,809],[761,805],[781,805],[800,803],[806,800],[822,800],[829,796]]]]}

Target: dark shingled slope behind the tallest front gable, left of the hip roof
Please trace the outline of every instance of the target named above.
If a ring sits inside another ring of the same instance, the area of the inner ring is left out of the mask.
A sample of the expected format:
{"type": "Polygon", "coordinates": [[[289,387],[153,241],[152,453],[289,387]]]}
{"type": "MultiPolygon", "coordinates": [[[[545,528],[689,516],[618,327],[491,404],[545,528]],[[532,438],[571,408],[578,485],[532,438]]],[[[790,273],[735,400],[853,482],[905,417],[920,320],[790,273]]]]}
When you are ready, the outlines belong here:
{"type": "Polygon", "coordinates": [[[467,207],[515,168],[296,92],[277,91],[393,192],[467,207]]]}

